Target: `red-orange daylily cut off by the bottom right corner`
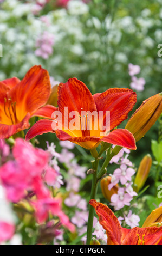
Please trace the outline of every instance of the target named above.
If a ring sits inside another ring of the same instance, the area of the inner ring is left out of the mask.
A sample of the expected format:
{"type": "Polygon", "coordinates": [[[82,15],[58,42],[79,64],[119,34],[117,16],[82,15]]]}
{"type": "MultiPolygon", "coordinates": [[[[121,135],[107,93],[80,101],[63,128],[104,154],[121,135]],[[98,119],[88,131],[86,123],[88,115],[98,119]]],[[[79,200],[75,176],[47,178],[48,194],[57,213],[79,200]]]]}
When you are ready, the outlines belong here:
{"type": "Polygon", "coordinates": [[[162,245],[162,227],[122,228],[108,206],[94,199],[89,204],[95,208],[99,222],[106,230],[107,245],[162,245]]]}

